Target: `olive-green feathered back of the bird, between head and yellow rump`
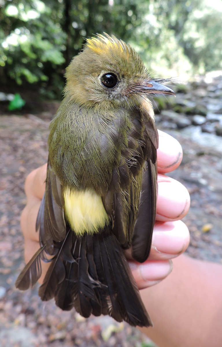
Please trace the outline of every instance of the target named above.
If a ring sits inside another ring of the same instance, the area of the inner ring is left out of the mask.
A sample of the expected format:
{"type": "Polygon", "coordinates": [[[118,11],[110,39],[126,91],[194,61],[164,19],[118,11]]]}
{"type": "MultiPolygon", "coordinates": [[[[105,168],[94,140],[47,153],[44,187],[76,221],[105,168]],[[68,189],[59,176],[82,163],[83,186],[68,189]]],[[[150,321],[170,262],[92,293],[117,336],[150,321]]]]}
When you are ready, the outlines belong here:
{"type": "Polygon", "coordinates": [[[126,153],[134,120],[135,112],[126,109],[105,117],[99,112],[58,113],[51,124],[49,160],[63,186],[103,194],[126,153]]]}

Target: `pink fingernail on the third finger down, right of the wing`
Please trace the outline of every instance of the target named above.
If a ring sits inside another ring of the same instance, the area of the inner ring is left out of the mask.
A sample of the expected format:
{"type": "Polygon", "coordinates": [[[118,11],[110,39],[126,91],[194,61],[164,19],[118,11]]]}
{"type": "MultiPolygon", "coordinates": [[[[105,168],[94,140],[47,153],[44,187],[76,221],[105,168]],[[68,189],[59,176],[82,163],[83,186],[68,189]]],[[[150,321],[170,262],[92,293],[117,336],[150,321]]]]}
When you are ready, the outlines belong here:
{"type": "Polygon", "coordinates": [[[189,243],[189,232],[186,225],[181,222],[156,222],[153,232],[152,248],[156,252],[177,256],[182,253],[189,243]],[[176,224],[177,223],[177,224],[176,224]],[[180,223],[180,227],[178,227],[180,223]],[[179,228],[179,232],[178,232],[179,228]]]}

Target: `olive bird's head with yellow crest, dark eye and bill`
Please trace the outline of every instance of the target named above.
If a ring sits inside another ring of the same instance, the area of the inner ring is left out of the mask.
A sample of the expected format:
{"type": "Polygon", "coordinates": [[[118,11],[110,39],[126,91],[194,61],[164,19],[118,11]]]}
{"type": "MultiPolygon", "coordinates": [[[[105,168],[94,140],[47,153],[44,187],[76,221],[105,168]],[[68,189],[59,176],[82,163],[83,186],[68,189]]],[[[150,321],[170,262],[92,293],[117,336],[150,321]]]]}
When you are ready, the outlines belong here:
{"type": "Polygon", "coordinates": [[[65,95],[69,98],[105,108],[131,108],[147,100],[150,93],[174,94],[150,78],[130,45],[107,34],[86,41],[83,51],[68,66],[66,79],[65,95]]]}

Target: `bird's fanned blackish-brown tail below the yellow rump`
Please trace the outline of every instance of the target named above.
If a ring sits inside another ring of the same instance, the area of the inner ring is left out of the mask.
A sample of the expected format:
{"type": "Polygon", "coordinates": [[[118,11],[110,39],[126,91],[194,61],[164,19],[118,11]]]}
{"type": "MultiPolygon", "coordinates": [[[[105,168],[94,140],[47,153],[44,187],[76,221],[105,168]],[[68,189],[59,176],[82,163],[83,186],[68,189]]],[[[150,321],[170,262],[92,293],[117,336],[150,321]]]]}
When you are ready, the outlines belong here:
{"type": "Polygon", "coordinates": [[[75,307],[83,317],[109,314],[118,322],[152,326],[123,249],[111,230],[82,237],[68,230],[39,295],[42,300],[54,297],[62,310],[75,307]]]}

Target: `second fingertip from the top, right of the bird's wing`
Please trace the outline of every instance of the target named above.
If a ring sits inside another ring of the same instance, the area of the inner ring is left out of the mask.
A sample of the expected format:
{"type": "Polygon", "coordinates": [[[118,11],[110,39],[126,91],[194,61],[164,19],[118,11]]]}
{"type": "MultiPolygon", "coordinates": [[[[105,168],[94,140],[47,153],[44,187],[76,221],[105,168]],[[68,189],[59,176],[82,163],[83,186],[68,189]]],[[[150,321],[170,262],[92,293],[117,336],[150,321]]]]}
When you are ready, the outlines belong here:
{"type": "Polygon", "coordinates": [[[180,182],[158,175],[158,196],[156,204],[156,220],[172,221],[183,218],[190,207],[190,196],[180,182]]]}

